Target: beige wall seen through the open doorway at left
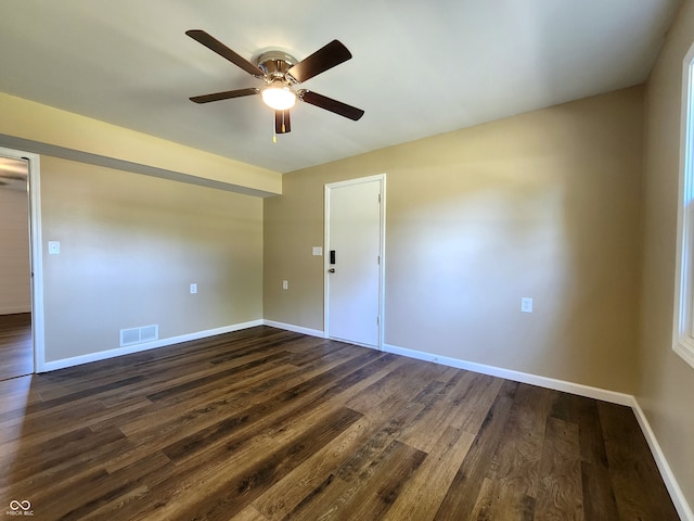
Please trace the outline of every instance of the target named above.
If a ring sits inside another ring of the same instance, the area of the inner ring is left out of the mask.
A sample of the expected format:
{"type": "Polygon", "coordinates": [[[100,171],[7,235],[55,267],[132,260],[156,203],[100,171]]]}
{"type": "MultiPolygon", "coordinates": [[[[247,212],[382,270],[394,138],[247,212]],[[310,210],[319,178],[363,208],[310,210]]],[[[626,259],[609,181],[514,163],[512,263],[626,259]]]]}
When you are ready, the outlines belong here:
{"type": "Polygon", "coordinates": [[[29,200],[0,187],[0,315],[31,310],[29,200]]]}

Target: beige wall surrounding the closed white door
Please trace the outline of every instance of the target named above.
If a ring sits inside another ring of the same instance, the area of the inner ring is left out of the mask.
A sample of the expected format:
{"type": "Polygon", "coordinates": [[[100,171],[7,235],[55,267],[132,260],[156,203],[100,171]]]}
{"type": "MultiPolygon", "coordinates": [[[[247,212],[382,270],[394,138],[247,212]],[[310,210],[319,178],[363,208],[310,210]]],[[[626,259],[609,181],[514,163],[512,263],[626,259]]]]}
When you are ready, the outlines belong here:
{"type": "Polygon", "coordinates": [[[386,173],[387,344],[633,392],[642,100],[632,88],[285,174],[265,204],[265,318],[323,329],[323,185],[386,173]]]}

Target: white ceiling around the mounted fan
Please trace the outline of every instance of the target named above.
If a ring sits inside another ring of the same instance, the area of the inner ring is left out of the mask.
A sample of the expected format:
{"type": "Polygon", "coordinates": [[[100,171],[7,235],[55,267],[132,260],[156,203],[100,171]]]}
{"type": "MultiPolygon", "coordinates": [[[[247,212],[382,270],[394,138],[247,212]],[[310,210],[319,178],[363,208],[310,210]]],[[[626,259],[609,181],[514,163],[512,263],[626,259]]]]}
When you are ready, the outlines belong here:
{"type": "Polygon", "coordinates": [[[0,91],[277,171],[643,82],[680,0],[3,0],[0,91]],[[352,60],[301,87],[365,111],[300,103],[272,143],[261,85],[184,35],[253,61],[333,39],[352,60]]]}

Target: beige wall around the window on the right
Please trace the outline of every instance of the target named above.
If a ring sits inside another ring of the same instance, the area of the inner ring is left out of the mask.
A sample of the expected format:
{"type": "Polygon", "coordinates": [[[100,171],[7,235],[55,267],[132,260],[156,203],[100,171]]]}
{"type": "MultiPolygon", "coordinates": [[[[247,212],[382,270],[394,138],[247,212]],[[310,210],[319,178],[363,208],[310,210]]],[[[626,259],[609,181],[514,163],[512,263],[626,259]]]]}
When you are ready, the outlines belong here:
{"type": "Polygon", "coordinates": [[[694,369],[672,346],[682,60],[694,4],[670,29],[646,90],[641,378],[637,398],[689,504],[694,506],[694,369]]]}

